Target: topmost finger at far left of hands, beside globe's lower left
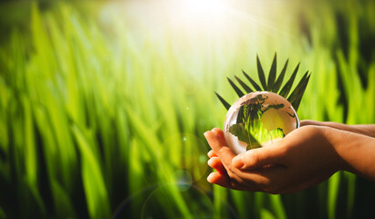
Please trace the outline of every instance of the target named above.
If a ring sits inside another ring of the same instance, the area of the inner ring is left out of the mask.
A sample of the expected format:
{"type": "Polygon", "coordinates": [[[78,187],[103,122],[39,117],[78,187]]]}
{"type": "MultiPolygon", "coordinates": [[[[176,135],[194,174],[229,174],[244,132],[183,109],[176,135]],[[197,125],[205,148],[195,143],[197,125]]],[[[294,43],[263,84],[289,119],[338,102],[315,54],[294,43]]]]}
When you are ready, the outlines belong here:
{"type": "MultiPolygon", "coordinates": [[[[220,131],[223,132],[222,130],[220,131]]],[[[226,143],[221,140],[219,137],[220,133],[218,135],[214,131],[206,131],[204,136],[210,147],[214,150],[215,154],[217,154],[217,156],[223,162],[225,168],[230,170],[232,159],[235,155],[234,152],[228,146],[226,146],[226,143]]]]}

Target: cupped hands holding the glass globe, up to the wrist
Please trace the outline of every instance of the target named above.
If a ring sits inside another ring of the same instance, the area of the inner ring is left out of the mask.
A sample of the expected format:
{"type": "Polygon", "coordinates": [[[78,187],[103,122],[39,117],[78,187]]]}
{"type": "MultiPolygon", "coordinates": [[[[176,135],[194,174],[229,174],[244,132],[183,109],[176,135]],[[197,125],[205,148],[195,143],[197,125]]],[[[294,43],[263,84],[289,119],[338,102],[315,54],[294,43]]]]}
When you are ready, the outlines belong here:
{"type": "Polygon", "coordinates": [[[295,193],[321,183],[343,165],[325,134],[328,129],[334,130],[305,126],[271,146],[237,156],[226,145],[222,130],[207,131],[204,136],[213,149],[208,164],[217,171],[207,180],[235,190],[267,193],[295,193]]]}

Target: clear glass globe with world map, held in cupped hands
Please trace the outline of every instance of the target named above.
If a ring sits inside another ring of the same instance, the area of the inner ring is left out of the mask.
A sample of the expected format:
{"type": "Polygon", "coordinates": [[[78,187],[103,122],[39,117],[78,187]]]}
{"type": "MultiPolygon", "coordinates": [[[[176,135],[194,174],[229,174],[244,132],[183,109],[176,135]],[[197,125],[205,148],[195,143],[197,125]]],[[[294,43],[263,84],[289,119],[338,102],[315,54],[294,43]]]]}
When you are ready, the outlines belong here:
{"type": "Polygon", "coordinates": [[[224,137],[235,154],[270,145],[299,127],[296,110],[282,96],[268,91],[248,93],[226,113],[224,137]]]}

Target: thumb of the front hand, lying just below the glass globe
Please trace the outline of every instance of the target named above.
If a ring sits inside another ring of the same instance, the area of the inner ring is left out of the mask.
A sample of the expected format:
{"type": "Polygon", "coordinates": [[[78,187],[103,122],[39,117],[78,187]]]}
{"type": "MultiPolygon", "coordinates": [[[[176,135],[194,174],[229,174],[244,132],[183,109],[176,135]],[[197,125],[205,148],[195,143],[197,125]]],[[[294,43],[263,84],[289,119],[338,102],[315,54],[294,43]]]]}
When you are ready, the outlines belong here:
{"type": "Polygon", "coordinates": [[[282,164],[285,154],[280,145],[252,149],[235,156],[232,165],[238,169],[257,169],[267,164],[282,164]]]}

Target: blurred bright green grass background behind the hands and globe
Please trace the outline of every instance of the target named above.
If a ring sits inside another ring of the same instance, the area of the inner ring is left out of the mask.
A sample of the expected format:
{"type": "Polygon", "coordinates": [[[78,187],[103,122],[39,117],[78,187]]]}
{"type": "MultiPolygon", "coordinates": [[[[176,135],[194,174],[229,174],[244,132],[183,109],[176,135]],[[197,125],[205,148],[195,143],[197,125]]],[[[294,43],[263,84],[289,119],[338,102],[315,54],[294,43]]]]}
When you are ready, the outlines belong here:
{"type": "Polygon", "coordinates": [[[374,123],[375,2],[237,0],[211,17],[181,2],[0,3],[0,218],[373,216],[374,183],[348,172],[295,194],[213,186],[203,132],[224,123],[214,91],[236,99],[225,77],[275,52],[312,71],[300,119],[374,123]]]}

